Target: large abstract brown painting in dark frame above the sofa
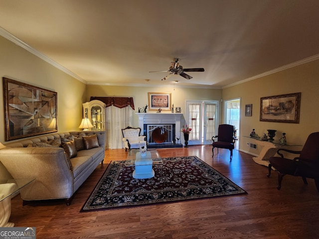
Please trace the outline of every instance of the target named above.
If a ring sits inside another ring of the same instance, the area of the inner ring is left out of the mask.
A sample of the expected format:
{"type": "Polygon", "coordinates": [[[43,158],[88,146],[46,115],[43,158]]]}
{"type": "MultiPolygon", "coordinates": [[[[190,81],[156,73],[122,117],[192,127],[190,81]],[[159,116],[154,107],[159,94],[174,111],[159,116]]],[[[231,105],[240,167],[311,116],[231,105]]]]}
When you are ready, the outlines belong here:
{"type": "Polygon", "coordinates": [[[3,77],[5,141],[57,131],[57,93],[3,77]]]}

